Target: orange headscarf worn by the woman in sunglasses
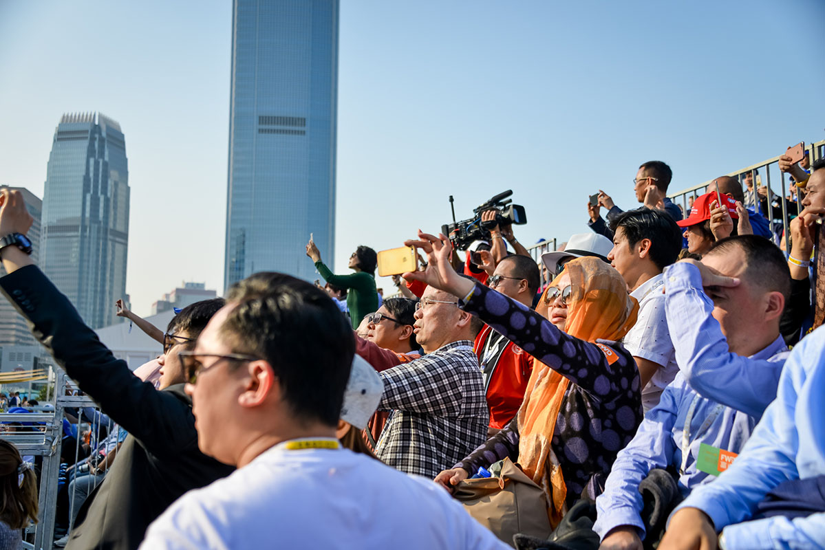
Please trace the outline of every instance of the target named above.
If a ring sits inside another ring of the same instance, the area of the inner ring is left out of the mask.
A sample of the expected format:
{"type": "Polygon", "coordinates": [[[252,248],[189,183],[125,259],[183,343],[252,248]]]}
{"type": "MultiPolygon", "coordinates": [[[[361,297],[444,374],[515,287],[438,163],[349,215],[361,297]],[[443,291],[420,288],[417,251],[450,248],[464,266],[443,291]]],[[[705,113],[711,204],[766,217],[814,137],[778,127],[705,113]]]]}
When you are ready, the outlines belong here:
{"type": "MultiPolygon", "coordinates": [[[[619,272],[589,256],[570,261],[565,270],[572,288],[564,331],[589,342],[620,340],[625,336],[636,322],[639,302],[629,296],[619,272]]],[[[559,284],[559,278],[560,275],[550,287],[559,284]]],[[[539,308],[536,311],[540,311],[539,308]]],[[[540,313],[547,317],[547,307],[540,313]]],[[[569,383],[568,378],[549,366],[536,364],[518,411],[519,465],[549,496],[552,505],[548,514],[554,528],[566,512],[567,486],[550,442],[569,383]]]]}

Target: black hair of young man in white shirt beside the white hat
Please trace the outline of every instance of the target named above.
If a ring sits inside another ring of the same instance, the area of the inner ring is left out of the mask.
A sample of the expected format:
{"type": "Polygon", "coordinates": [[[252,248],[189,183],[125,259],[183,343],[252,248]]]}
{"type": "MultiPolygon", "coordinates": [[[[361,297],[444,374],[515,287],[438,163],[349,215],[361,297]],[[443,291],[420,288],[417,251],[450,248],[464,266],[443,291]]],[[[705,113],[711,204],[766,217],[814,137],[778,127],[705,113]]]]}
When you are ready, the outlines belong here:
{"type": "Polygon", "coordinates": [[[649,208],[628,210],[610,222],[614,233],[618,228],[622,228],[630,247],[650,239],[650,260],[660,270],[676,263],[681,251],[681,229],[667,212],[649,208]]]}

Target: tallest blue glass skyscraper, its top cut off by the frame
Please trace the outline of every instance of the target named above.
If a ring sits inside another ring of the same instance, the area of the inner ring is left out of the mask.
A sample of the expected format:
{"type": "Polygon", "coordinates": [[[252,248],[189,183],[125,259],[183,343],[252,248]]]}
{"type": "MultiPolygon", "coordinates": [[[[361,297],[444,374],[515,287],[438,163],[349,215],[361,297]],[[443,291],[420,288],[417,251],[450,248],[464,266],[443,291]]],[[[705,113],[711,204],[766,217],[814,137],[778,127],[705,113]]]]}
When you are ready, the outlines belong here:
{"type": "Polygon", "coordinates": [[[332,266],[338,0],[234,0],[224,284],[332,266]]]}

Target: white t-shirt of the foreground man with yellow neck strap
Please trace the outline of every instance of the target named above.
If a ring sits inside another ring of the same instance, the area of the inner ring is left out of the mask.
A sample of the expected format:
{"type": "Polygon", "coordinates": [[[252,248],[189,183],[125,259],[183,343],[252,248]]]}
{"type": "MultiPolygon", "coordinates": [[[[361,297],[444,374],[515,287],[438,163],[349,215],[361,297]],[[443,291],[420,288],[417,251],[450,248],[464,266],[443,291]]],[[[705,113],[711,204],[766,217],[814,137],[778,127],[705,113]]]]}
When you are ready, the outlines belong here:
{"type": "Polygon", "coordinates": [[[431,480],[348,449],[287,443],[181,496],[140,548],[510,548],[431,480]]]}

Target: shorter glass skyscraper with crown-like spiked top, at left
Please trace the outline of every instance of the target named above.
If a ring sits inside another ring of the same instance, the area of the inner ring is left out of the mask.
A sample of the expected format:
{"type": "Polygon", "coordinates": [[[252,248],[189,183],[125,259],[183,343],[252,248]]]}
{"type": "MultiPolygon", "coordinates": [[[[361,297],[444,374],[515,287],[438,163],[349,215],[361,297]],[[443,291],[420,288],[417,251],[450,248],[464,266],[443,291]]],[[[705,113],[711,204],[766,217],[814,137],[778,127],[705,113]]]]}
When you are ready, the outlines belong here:
{"type": "Polygon", "coordinates": [[[97,113],[63,115],[43,195],[45,274],[90,327],[115,320],[126,294],[129,172],[120,125],[97,113]]]}

